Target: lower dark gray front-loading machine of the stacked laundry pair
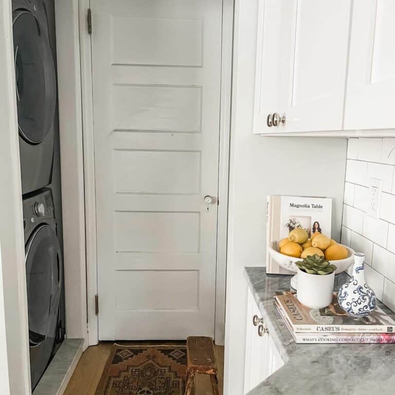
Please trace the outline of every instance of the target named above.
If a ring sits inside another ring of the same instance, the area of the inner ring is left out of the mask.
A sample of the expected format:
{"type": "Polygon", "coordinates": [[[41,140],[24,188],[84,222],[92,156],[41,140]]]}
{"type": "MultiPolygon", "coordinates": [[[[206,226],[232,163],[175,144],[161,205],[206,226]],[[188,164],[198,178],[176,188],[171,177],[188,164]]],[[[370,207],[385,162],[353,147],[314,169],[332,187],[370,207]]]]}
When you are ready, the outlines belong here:
{"type": "Polygon", "coordinates": [[[34,388],[51,360],[60,325],[63,267],[49,189],[25,197],[23,218],[30,372],[34,388]]]}

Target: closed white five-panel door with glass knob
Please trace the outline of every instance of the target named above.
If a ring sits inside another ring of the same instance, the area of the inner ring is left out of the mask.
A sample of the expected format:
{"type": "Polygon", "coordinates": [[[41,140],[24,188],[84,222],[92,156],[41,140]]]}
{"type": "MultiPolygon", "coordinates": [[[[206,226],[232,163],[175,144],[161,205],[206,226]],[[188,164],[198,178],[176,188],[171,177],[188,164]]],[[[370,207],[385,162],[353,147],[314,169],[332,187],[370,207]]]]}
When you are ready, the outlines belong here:
{"type": "Polygon", "coordinates": [[[99,339],[213,336],[222,1],[91,8],[99,339]]]}

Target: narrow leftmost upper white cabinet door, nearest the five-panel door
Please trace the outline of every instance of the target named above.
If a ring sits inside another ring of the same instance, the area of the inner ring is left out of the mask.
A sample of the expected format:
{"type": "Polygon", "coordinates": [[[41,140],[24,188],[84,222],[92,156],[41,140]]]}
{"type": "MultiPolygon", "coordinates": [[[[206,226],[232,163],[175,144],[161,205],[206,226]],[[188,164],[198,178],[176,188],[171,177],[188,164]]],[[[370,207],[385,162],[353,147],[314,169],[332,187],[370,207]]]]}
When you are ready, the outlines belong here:
{"type": "MultiPolygon", "coordinates": [[[[289,0],[259,0],[255,75],[254,133],[274,133],[268,114],[282,111],[284,67],[284,18],[289,0]]],[[[276,129],[276,130],[274,130],[276,129]]]]}

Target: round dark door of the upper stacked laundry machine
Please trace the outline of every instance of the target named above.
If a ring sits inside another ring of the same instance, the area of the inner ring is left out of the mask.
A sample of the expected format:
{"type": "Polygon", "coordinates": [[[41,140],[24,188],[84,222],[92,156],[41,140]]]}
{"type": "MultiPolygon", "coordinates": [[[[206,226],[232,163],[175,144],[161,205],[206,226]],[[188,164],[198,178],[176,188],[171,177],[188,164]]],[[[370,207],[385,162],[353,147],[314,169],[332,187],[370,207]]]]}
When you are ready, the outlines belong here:
{"type": "Polygon", "coordinates": [[[18,124],[22,137],[40,143],[50,131],[56,107],[56,77],[48,28],[27,10],[13,13],[18,124]]]}

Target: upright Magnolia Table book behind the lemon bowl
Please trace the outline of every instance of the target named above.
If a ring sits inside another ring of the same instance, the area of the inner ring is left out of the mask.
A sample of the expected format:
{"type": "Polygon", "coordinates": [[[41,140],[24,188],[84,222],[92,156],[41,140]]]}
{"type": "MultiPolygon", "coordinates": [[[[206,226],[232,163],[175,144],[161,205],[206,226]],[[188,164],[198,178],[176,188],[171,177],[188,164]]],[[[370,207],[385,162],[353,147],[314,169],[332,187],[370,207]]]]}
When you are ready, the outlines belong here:
{"type": "MultiPolygon", "coordinates": [[[[331,237],[332,199],[308,196],[267,196],[266,242],[278,242],[291,230],[304,228],[309,237],[316,231],[331,237]]],[[[266,248],[266,273],[295,274],[274,261],[266,248]]]]}

